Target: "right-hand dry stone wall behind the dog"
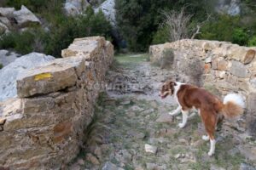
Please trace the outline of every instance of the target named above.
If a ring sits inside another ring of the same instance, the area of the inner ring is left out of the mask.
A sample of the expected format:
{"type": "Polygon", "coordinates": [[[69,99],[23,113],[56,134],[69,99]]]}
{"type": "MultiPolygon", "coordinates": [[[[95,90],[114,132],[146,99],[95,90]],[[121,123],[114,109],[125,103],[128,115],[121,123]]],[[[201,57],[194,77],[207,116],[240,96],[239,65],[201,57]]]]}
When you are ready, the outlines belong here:
{"type": "MultiPolygon", "coordinates": [[[[198,84],[217,88],[220,95],[242,94],[247,99],[248,124],[256,123],[255,47],[241,47],[230,42],[184,39],[151,46],[151,62],[158,62],[166,49],[172,49],[174,53],[172,68],[176,71],[177,77],[173,79],[196,83],[197,80],[194,80],[192,73],[198,70],[197,67],[201,67],[203,73],[198,84]]],[[[256,127],[252,127],[255,133],[256,127]]]]}

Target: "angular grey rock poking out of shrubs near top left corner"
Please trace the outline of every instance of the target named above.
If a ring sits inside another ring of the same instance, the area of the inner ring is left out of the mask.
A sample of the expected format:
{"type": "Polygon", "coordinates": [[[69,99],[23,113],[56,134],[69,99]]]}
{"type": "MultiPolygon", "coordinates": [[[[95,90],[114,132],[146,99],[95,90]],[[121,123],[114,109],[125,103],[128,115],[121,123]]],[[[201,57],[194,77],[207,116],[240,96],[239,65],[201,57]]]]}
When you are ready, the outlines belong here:
{"type": "Polygon", "coordinates": [[[14,12],[14,17],[20,28],[41,24],[37,16],[24,5],[21,6],[20,10],[14,12]]]}

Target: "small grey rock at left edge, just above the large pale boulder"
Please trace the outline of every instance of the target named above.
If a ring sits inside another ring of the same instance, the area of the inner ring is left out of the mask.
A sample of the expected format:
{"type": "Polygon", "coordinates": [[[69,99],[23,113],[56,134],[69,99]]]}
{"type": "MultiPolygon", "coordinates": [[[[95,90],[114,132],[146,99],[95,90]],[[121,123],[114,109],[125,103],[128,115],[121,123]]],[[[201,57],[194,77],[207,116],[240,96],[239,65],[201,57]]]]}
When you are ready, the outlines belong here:
{"type": "Polygon", "coordinates": [[[19,54],[15,54],[14,52],[9,52],[5,49],[0,50],[0,65],[3,67],[9,65],[15,59],[19,57],[19,54]]]}

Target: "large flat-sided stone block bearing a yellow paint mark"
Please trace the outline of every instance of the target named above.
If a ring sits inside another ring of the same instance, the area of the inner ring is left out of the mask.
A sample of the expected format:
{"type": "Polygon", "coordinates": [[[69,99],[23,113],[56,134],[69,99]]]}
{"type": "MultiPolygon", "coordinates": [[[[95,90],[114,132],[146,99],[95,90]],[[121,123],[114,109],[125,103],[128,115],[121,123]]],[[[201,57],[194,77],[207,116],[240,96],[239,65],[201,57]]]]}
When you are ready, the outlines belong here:
{"type": "Polygon", "coordinates": [[[23,73],[17,80],[17,93],[20,98],[49,94],[75,85],[77,79],[73,65],[47,65],[23,73]]]}

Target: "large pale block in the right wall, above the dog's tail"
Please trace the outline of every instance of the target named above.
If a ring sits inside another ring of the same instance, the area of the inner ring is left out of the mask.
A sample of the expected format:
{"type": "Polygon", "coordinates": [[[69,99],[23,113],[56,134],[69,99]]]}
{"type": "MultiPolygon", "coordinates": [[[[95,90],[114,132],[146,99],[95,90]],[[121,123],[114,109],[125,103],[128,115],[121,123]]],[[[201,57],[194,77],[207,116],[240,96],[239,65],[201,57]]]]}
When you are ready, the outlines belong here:
{"type": "Polygon", "coordinates": [[[241,64],[241,62],[232,60],[232,66],[230,68],[230,73],[232,73],[236,77],[245,78],[245,77],[247,77],[247,67],[245,65],[241,64]]]}

